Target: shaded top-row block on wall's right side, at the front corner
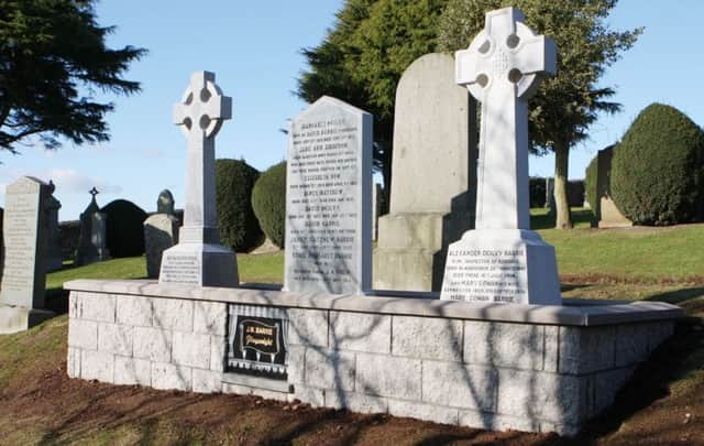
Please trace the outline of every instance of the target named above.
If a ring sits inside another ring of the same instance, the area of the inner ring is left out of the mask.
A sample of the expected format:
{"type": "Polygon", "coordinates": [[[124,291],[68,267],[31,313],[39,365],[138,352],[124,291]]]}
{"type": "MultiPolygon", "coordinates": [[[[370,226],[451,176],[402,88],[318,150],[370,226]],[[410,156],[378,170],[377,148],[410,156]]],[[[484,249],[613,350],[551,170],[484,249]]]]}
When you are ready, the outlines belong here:
{"type": "Polygon", "coordinates": [[[614,368],[615,328],[560,327],[560,373],[583,374],[614,368]]]}

